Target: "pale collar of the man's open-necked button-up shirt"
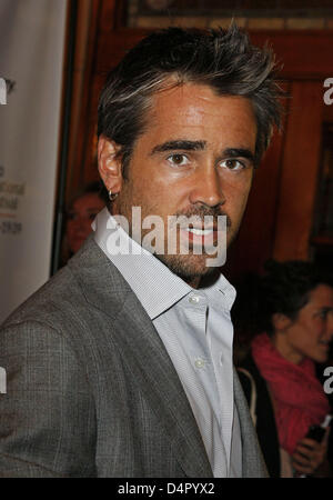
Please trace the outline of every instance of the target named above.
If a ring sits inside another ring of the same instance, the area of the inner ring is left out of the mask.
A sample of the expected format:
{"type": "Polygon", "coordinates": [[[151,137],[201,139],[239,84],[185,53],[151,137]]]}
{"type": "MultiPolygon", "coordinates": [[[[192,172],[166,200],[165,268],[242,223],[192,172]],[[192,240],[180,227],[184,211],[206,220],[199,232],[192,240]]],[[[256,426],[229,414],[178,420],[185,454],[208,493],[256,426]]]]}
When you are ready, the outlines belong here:
{"type": "MultiPolygon", "coordinates": [[[[151,320],[195,291],[130,238],[107,208],[97,216],[92,229],[95,242],[128,281],[151,320]],[[130,251],[117,253],[114,249],[118,250],[120,247],[130,251]]],[[[200,290],[219,304],[222,292],[224,304],[231,309],[235,290],[223,274],[213,286],[200,290]]]]}

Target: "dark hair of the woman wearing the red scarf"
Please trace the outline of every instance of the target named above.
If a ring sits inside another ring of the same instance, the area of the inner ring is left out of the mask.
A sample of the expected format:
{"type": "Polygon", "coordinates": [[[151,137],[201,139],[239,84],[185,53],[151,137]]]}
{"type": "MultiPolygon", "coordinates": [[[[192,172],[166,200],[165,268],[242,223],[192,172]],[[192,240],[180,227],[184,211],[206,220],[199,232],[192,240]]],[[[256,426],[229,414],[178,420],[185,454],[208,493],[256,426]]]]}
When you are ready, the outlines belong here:
{"type": "Polygon", "coordinates": [[[333,288],[333,277],[312,262],[266,261],[262,276],[248,274],[238,288],[232,310],[235,330],[241,337],[263,331],[272,336],[273,314],[280,312],[294,321],[319,284],[333,288]]]}

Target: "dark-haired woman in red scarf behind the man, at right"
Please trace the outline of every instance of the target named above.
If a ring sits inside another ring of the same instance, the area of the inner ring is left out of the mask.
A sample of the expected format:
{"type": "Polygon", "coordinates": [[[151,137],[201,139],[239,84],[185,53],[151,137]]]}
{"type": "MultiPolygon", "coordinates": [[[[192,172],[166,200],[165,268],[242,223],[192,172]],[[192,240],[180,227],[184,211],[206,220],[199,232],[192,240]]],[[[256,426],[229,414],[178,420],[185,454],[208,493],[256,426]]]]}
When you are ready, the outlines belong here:
{"type": "Polygon", "coordinates": [[[303,261],[265,271],[245,280],[233,321],[241,339],[254,334],[239,374],[266,466],[271,477],[331,477],[330,429],[321,443],[306,434],[332,411],[315,371],[333,337],[332,277],[303,261]]]}

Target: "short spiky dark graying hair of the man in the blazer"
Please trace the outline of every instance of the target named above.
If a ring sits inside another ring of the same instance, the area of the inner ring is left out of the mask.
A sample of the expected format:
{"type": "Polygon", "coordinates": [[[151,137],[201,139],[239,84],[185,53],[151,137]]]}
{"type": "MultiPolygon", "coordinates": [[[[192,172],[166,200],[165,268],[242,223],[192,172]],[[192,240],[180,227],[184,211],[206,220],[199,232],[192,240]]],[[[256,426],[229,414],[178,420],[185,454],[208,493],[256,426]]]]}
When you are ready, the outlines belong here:
{"type": "Polygon", "coordinates": [[[281,123],[283,96],[276,82],[276,62],[269,47],[250,43],[232,23],[228,30],[201,31],[168,28],[157,31],[130,50],[110,72],[99,102],[98,136],[121,149],[127,174],[137,139],[144,132],[151,97],[185,82],[211,87],[219,96],[243,96],[256,117],[255,162],[266,150],[274,124],[281,123]]]}

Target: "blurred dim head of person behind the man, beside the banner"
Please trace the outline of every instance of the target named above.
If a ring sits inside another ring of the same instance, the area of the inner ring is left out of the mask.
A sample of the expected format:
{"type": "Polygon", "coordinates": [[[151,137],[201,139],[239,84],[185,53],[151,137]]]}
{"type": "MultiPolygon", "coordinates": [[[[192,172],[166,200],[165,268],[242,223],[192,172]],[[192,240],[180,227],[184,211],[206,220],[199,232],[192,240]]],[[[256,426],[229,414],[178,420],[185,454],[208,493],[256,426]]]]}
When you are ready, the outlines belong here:
{"type": "Polygon", "coordinates": [[[105,192],[100,181],[88,184],[72,198],[65,213],[62,266],[81,248],[92,231],[92,221],[105,203],[105,192]]]}

